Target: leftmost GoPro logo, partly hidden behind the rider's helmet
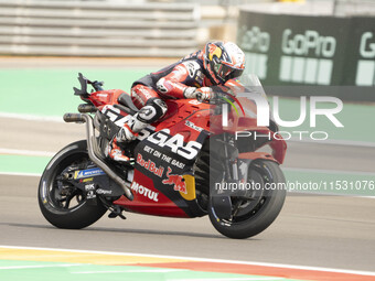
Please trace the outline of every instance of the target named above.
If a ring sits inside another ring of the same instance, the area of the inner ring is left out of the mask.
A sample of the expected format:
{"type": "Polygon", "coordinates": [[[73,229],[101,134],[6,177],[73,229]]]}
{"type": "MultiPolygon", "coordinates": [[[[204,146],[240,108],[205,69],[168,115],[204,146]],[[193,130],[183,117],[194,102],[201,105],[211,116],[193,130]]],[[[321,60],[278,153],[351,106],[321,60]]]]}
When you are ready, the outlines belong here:
{"type": "Polygon", "coordinates": [[[270,35],[258,26],[247,30],[244,25],[240,30],[240,46],[245,52],[246,69],[256,74],[260,79],[267,78],[267,61],[270,46],[270,35]]]}

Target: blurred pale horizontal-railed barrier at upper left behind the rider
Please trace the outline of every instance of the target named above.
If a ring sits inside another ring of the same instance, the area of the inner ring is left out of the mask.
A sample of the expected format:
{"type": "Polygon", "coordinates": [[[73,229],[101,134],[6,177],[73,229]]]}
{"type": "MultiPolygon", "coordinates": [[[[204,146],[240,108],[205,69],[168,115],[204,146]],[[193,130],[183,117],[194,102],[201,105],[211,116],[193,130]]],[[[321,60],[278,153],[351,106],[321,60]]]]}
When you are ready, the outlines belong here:
{"type": "Polygon", "coordinates": [[[196,4],[0,0],[0,54],[184,56],[196,4]]]}

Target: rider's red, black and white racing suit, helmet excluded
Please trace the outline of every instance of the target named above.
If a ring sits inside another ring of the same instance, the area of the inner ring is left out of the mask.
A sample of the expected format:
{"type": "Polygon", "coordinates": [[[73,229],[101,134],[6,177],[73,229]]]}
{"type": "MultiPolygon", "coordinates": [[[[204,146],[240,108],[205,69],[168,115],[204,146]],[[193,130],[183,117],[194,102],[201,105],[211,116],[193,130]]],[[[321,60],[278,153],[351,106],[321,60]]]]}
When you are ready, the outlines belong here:
{"type": "MultiPolygon", "coordinates": [[[[140,110],[127,126],[126,136],[121,139],[135,139],[137,132],[164,116],[167,104],[163,99],[196,98],[197,93],[202,100],[210,100],[214,93],[211,86],[216,86],[207,69],[204,68],[203,52],[192,53],[179,62],[151,73],[132,84],[131,98],[140,110]]],[[[225,85],[238,85],[235,79],[229,79],[225,85]]],[[[120,130],[121,132],[121,130],[120,130]]],[[[117,145],[117,138],[108,147],[108,155],[116,161],[128,161],[121,149],[117,145]]]]}

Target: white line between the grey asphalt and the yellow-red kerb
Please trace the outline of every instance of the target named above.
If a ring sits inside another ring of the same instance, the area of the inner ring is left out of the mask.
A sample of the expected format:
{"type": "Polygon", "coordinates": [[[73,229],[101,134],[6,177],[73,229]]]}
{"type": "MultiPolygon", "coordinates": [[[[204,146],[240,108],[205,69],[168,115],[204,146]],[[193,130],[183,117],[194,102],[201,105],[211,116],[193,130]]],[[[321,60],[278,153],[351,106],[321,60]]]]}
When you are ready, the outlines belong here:
{"type": "Polygon", "coordinates": [[[81,253],[98,253],[98,255],[111,255],[111,256],[137,256],[147,258],[165,258],[165,259],[182,259],[190,261],[206,261],[206,262],[223,262],[231,264],[248,264],[248,266],[261,266],[271,268],[288,268],[288,269],[301,269],[301,270],[312,270],[322,272],[334,272],[334,273],[347,273],[357,275],[369,275],[375,277],[375,272],[372,271],[361,271],[361,270],[346,270],[346,269],[333,269],[333,268],[320,268],[320,267],[307,267],[307,266],[296,266],[296,264],[285,264],[285,263],[271,263],[271,262],[256,262],[256,261],[240,261],[240,260],[225,260],[225,259],[206,259],[206,258],[194,258],[194,257],[181,257],[181,256],[163,256],[163,255],[146,255],[146,253],[135,253],[135,252],[113,252],[113,251],[94,251],[94,250],[73,250],[73,249],[56,249],[56,248],[40,248],[40,247],[20,247],[20,246],[2,246],[0,248],[7,249],[29,249],[29,250],[51,250],[51,251],[64,251],[64,252],[81,252],[81,253]]]}

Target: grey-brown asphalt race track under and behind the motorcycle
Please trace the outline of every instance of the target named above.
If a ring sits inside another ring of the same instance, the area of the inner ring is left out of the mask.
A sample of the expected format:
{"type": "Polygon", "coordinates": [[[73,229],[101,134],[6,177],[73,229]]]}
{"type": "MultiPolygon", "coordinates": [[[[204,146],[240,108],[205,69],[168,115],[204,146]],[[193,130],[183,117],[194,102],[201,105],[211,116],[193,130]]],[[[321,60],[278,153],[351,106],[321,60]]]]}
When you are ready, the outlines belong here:
{"type": "MultiPolygon", "coordinates": [[[[0,128],[7,131],[0,148],[8,149],[56,152],[84,137],[79,125],[1,118],[0,128]],[[19,136],[20,131],[28,138],[19,136]]],[[[369,160],[375,156],[374,149],[368,148],[291,142],[286,166],[352,171],[344,159],[361,171],[374,172],[374,166],[363,161],[364,153],[369,160]],[[351,153],[346,159],[347,150],[351,153]],[[328,161],[321,161],[321,155],[328,161]]],[[[216,233],[207,217],[174,219],[128,214],[127,220],[104,216],[84,230],[56,229],[39,210],[38,184],[39,176],[0,175],[1,245],[375,269],[373,198],[290,194],[280,216],[265,233],[232,240],[216,233]]]]}

